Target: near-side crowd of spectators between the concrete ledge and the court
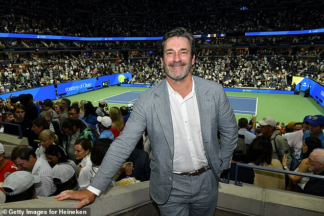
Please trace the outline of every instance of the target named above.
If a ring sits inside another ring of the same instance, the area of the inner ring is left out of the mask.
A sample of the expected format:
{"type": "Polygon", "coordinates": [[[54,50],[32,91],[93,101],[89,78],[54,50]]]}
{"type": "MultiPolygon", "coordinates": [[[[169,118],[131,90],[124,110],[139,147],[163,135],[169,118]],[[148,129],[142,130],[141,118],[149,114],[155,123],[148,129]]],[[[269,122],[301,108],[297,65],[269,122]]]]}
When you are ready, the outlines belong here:
{"type": "MultiPolygon", "coordinates": [[[[101,100],[95,107],[89,101],[71,102],[66,98],[56,103],[49,99],[34,102],[31,94],[21,94],[9,100],[0,98],[0,120],[20,125],[22,134],[29,142],[29,146],[13,149],[11,160],[0,157],[0,162],[7,164],[0,173],[18,172],[8,179],[0,179],[4,182],[0,189],[7,195],[6,202],[55,196],[66,189],[86,188],[98,171],[110,143],[123,131],[132,106],[109,108],[101,100]],[[13,181],[12,178],[21,180],[23,177],[36,178],[37,181],[15,181],[21,185],[9,183],[13,181]],[[33,184],[39,181],[42,184],[33,184]]],[[[234,180],[237,162],[302,173],[310,173],[310,167],[314,174],[322,175],[322,171],[312,170],[312,160],[320,161],[324,166],[324,116],[308,115],[302,121],[295,121],[280,125],[271,116],[257,119],[257,116],[252,115],[250,121],[240,118],[238,147],[233,155],[231,169],[224,172],[222,177],[227,178],[227,172],[230,172],[230,179],[234,180]],[[295,154],[298,155],[297,159],[295,154]],[[323,157],[318,154],[323,154],[323,157]]],[[[18,135],[12,125],[2,124],[0,132],[18,135]]],[[[133,172],[129,173],[128,164],[124,163],[111,186],[149,180],[149,153],[149,137],[144,133],[126,160],[131,162],[129,165],[133,165],[133,172]]],[[[0,143],[0,156],[2,154],[4,147],[0,143]]],[[[238,180],[324,196],[320,181],[297,175],[288,175],[285,179],[284,174],[268,175],[264,171],[253,172],[240,168],[238,180]]]]}

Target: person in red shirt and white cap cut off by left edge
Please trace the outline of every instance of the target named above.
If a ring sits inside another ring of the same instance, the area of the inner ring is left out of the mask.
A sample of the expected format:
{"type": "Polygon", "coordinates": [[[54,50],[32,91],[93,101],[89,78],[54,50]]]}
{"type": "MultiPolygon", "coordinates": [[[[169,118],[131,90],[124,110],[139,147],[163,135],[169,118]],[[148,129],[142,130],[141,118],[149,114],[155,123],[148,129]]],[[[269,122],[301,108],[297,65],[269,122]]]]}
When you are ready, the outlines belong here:
{"type": "Polygon", "coordinates": [[[5,148],[0,143],[0,190],[3,191],[2,185],[11,173],[18,170],[17,166],[9,159],[5,158],[5,148]]]}

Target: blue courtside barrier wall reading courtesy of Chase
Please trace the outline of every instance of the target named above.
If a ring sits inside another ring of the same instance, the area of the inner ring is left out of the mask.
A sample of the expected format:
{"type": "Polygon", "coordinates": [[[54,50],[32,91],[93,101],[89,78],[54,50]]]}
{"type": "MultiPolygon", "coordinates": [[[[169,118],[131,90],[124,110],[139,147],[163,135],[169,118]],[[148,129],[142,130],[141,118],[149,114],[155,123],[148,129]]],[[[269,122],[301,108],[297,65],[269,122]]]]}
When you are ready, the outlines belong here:
{"type": "Polygon", "coordinates": [[[32,94],[34,96],[34,101],[43,101],[45,99],[56,99],[61,97],[70,96],[73,94],[91,91],[94,89],[99,89],[106,85],[108,80],[110,85],[120,84],[125,78],[129,80],[132,79],[132,74],[114,74],[104,77],[91,78],[85,80],[78,80],[74,82],[60,83],[57,85],[49,85],[39,88],[31,88],[21,91],[13,91],[10,93],[0,94],[2,99],[8,98],[10,95],[12,97],[18,97],[19,94],[32,94]],[[97,80],[98,79],[98,80],[97,80]],[[57,86],[57,87],[56,87],[57,86]]]}

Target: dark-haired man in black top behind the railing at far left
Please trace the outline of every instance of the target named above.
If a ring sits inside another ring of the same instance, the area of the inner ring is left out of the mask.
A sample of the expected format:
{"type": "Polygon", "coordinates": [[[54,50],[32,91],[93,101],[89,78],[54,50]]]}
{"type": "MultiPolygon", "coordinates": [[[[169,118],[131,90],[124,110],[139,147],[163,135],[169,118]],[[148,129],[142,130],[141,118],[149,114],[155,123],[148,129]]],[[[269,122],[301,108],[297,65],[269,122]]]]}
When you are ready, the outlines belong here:
{"type": "MultiPolygon", "coordinates": [[[[15,119],[11,123],[20,125],[21,126],[21,131],[22,131],[22,136],[28,137],[29,134],[30,134],[30,131],[31,131],[32,127],[33,127],[33,123],[29,119],[25,118],[25,107],[24,107],[24,105],[17,104],[13,108],[13,113],[15,115],[15,119]]],[[[12,134],[12,135],[19,136],[18,127],[13,126],[13,125],[5,125],[4,133],[9,133],[9,134],[12,134]]]]}

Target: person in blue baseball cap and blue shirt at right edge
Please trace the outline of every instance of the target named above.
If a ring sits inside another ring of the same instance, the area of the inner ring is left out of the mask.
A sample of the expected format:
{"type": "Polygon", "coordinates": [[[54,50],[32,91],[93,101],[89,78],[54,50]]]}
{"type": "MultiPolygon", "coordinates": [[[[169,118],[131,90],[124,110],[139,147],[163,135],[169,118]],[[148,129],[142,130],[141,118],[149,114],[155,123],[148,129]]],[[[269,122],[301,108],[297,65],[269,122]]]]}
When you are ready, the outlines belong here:
{"type": "Polygon", "coordinates": [[[309,123],[309,130],[304,133],[303,141],[306,137],[317,137],[321,141],[322,148],[324,149],[324,116],[313,115],[311,118],[306,119],[306,122],[309,123]]]}

